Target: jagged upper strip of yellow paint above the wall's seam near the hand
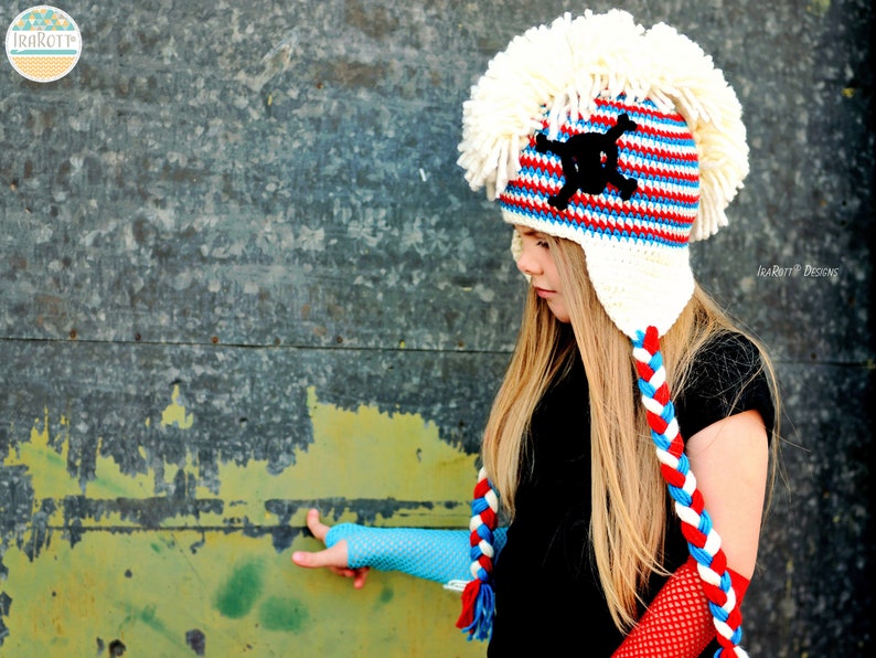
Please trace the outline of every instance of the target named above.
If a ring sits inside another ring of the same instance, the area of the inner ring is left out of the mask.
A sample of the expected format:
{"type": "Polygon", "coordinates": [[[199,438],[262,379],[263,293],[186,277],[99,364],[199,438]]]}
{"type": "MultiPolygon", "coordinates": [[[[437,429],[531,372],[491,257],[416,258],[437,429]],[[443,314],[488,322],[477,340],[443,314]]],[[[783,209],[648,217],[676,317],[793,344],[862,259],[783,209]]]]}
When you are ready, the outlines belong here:
{"type": "MultiPolygon", "coordinates": [[[[191,417],[179,396],[174,395],[172,406],[174,417],[191,417]]],[[[30,441],[19,443],[4,465],[26,468],[34,491],[33,511],[47,510],[42,513],[47,514],[50,529],[68,528],[73,521],[84,530],[137,528],[146,519],[158,527],[261,527],[276,524],[278,514],[285,514],[284,506],[269,501],[362,498],[374,499],[374,509],[382,510],[383,518],[399,509],[383,501],[406,501],[402,507],[408,510],[407,522],[415,516],[438,522],[430,508],[439,502],[451,511],[451,521],[466,522],[464,501],[474,480],[476,457],[442,442],[437,425],[418,414],[366,405],[343,410],[320,402],[312,386],[308,408],[314,445],[300,455],[296,466],[279,474],[270,473],[267,460],[250,459],[223,463],[215,476],[206,478],[193,450],[186,449],[181,461],[169,464],[157,461],[143,446],[138,453],[148,469],[122,473],[114,458],[102,454],[103,439],[97,437],[97,449],[89,456],[93,478],[81,481],[75,475],[77,465],[70,464],[70,422],[60,415],[53,429],[47,408],[42,418],[34,420],[30,441]],[[393,473],[386,473],[387,464],[393,465],[393,473]],[[46,506],[45,501],[52,502],[46,506]],[[421,511],[415,514],[416,506],[421,511]],[[456,512],[453,506],[458,506],[456,512]]],[[[163,436],[163,429],[153,431],[162,433],[162,441],[173,439],[163,436]]],[[[32,532],[22,539],[24,543],[36,541],[32,532]]],[[[70,535],[78,538],[78,532],[70,535]]]]}

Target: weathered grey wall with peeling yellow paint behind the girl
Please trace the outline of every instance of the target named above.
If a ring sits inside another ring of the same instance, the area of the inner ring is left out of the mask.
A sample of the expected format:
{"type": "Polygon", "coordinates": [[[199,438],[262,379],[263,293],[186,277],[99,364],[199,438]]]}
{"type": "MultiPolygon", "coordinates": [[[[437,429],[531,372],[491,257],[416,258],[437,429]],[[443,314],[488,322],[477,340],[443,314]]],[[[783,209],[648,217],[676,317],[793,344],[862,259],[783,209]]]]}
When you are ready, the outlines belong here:
{"type": "MultiPolygon", "coordinates": [[[[620,4],[746,108],[751,176],[694,250],[783,385],[745,645],[867,654],[872,8],[620,4]]],[[[523,283],[455,164],[460,104],[569,7],[70,1],[70,75],[3,61],[0,654],[483,655],[437,585],[353,592],[289,554],[312,505],[466,522],[523,283]]]]}

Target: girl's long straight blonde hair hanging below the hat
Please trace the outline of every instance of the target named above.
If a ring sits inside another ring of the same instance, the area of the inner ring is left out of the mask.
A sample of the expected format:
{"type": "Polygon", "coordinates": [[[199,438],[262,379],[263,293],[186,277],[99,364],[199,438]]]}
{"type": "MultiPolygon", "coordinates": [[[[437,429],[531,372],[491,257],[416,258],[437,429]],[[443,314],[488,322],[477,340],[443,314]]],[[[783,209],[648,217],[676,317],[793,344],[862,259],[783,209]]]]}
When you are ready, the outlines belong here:
{"type": "MultiPolygon", "coordinates": [[[[592,555],[612,619],[627,630],[635,623],[638,604],[644,603],[641,592],[651,573],[665,573],[661,562],[666,488],[635,393],[630,340],[597,299],[581,247],[553,237],[548,244],[563,282],[574,341],[564,340],[568,332],[530,289],[516,348],[487,423],[482,459],[503,509],[513,518],[530,420],[577,348],[589,386],[590,436],[581,441],[590,441],[592,555]]],[[[737,331],[739,328],[696,286],[693,298],[661,339],[670,391],[684,388],[697,350],[720,333],[737,331]]],[[[774,383],[762,350],[761,355],[768,379],[774,383]]],[[[772,390],[774,395],[774,385],[772,390]]]]}

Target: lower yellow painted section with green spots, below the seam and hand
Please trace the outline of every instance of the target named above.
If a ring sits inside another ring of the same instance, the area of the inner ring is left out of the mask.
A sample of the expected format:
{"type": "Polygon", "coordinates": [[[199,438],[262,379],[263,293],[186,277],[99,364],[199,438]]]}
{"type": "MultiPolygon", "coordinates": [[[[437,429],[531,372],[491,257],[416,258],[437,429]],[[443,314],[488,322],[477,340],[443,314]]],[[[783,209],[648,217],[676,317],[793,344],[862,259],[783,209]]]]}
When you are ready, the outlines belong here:
{"type": "MultiPolygon", "coordinates": [[[[293,567],[270,542],[242,533],[209,533],[192,553],[202,537],[94,533],[75,549],[52,544],[39,569],[11,551],[6,586],[13,603],[2,655],[93,656],[95,638],[103,638],[105,647],[121,643],[126,656],[191,656],[196,646],[229,657],[483,656],[483,646],[467,643],[453,625],[458,595],[440,585],[375,572],[354,591],[346,579],[293,567]],[[242,579],[242,569],[253,573],[242,579]],[[236,607],[227,588],[235,583],[246,596],[236,607]],[[221,595],[235,616],[216,608],[221,595]]],[[[298,548],[312,549],[313,540],[300,539],[298,548]]]]}

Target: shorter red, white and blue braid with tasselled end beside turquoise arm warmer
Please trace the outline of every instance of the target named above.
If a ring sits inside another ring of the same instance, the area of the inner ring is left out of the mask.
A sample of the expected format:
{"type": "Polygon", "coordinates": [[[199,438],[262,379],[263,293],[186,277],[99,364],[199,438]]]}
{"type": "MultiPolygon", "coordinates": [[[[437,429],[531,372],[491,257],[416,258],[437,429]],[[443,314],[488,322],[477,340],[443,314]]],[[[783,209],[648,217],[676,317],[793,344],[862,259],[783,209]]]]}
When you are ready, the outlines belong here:
{"type": "Polygon", "coordinates": [[[493,627],[495,598],[493,596],[493,531],[496,527],[499,497],[481,468],[471,501],[469,543],[471,544],[471,581],[462,592],[462,614],[457,628],[468,633],[468,639],[488,639],[493,627]]]}

